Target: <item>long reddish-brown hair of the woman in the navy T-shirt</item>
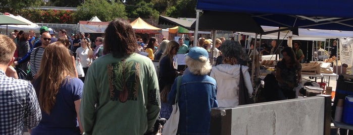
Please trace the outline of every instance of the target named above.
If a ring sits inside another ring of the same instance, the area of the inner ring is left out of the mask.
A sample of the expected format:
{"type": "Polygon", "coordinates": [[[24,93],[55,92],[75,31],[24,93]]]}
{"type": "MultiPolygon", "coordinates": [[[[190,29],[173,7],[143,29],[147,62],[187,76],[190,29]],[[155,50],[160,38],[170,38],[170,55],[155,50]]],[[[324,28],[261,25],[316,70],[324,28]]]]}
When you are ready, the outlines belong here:
{"type": "Polygon", "coordinates": [[[40,108],[47,114],[53,109],[60,86],[65,83],[66,78],[75,77],[74,69],[71,55],[61,42],[54,42],[45,47],[38,73],[38,101],[40,108]]]}

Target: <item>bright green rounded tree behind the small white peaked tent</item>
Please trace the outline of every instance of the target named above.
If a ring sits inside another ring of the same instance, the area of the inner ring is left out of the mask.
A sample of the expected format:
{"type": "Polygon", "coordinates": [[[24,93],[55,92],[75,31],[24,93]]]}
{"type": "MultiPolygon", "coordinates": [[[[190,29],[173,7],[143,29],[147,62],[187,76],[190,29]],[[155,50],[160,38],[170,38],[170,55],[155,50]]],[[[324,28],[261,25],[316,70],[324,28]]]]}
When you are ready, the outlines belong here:
{"type": "Polygon", "coordinates": [[[84,4],[77,7],[76,15],[78,20],[89,20],[97,16],[104,22],[109,22],[115,18],[127,19],[125,6],[120,2],[108,2],[102,0],[85,0],[84,4]]]}

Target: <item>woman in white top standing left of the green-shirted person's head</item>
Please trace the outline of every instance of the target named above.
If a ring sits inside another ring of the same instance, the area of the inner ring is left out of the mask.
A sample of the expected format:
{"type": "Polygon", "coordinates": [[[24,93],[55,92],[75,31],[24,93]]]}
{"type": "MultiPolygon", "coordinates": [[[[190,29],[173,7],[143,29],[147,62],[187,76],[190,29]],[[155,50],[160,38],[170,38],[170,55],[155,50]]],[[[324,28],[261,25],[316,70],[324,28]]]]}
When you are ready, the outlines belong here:
{"type": "Polygon", "coordinates": [[[78,60],[83,67],[83,76],[78,75],[82,82],[84,82],[84,76],[87,74],[88,67],[92,63],[92,58],[88,56],[88,52],[92,51],[87,39],[81,39],[81,47],[76,50],[76,60],[78,60]]]}

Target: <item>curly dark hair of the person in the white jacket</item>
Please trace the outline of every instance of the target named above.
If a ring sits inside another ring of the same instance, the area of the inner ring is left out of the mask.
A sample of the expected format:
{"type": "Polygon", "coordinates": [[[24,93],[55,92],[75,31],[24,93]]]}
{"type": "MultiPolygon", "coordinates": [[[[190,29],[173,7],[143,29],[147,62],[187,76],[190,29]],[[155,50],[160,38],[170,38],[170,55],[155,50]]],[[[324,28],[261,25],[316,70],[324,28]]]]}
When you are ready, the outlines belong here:
{"type": "Polygon", "coordinates": [[[236,58],[237,60],[245,53],[241,44],[234,40],[226,40],[221,45],[221,51],[224,57],[236,58]]]}

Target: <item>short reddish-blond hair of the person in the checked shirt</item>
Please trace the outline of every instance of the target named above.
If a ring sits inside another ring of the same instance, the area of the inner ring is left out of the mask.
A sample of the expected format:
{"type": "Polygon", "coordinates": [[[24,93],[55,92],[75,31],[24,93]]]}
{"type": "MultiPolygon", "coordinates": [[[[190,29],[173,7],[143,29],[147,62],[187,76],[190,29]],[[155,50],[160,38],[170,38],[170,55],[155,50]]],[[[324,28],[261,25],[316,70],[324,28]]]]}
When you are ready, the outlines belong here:
{"type": "Polygon", "coordinates": [[[14,56],[16,44],[10,37],[0,34],[0,63],[8,64],[14,56]]]}

